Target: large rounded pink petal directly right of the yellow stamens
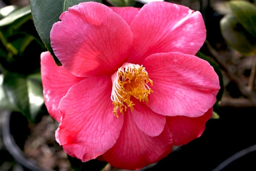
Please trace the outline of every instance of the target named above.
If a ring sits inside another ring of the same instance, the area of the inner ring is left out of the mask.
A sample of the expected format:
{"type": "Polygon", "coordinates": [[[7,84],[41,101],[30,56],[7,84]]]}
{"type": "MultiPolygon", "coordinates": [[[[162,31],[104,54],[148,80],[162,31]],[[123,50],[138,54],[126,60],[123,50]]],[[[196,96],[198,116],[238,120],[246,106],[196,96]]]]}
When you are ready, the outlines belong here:
{"type": "Polygon", "coordinates": [[[148,105],[166,116],[198,117],[216,102],[219,78],[206,60],[178,52],[147,57],[143,66],[153,80],[148,105]]]}

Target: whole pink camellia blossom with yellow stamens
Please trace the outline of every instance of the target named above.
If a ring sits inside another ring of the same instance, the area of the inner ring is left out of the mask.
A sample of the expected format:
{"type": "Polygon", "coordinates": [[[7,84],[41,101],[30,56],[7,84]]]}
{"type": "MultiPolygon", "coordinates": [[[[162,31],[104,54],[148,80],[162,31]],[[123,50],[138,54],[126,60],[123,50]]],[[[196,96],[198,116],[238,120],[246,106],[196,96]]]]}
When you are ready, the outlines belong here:
{"type": "Polygon", "coordinates": [[[70,156],[137,169],[203,133],[220,86],[195,56],[206,38],[200,12],[166,2],[80,3],[60,15],[50,38],[62,66],[41,54],[45,103],[70,156]]]}

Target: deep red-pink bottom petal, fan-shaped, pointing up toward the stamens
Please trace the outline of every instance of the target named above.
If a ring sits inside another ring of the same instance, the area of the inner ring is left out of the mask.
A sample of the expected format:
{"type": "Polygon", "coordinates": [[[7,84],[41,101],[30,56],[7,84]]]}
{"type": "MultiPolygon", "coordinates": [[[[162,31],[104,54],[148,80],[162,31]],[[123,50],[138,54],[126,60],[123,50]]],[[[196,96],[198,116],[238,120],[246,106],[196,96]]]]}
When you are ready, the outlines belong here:
{"type": "Polygon", "coordinates": [[[123,128],[116,144],[102,156],[114,167],[137,169],[166,157],[172,147],[172,134],[167,126],[159,136],[148,136],[137,127],[129,111],[124,114],[123,128]]]}

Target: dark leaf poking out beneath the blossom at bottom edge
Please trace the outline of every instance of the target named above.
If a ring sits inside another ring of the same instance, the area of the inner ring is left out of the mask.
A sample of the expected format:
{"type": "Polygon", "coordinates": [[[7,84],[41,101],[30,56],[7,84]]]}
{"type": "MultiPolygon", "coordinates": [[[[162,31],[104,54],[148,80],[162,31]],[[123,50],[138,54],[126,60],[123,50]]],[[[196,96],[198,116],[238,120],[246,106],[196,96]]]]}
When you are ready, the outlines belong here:
{"type": "Polygon", "coordinates": [[[81,162],[81,160],[71,156],[68,156],[68,159],[74,171],[83,171],[83,170],[100,171],[106,166],[106,164],[108,164],[107,162],[102,162],[97,159],[90,160],[88,162],[81,162]]]}

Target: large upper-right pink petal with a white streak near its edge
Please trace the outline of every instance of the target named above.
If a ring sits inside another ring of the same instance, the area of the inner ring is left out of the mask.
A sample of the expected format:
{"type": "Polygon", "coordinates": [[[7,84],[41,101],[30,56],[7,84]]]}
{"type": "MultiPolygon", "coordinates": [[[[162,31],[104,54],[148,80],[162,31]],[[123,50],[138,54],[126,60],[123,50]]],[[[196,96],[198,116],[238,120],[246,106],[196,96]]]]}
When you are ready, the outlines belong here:
{"type": "Polygon", "coordinates": [[[134,48],[128,62],[141,63],[154,53],[195,55],[206,38],[200,12],[167,2],[144,5],[131,23],[134,48]]]}

